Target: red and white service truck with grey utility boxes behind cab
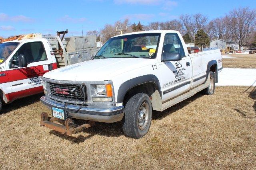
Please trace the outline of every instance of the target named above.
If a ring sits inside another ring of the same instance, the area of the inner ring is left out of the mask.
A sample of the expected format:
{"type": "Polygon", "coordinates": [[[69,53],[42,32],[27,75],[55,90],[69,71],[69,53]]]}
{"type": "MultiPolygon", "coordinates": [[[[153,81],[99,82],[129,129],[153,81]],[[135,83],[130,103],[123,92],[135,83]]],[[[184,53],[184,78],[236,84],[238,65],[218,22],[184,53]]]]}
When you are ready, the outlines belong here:
{"type": "Polygon", "coordinates": [[[66,31],[42,38],[41,33],[17,35],[0,43],[0,110],[2,104],[42,93],[44,73],[89,60],[98,51],[96,36],[67,37],[66,31]],[[62,39],[60,34],[63,34],[62,39]]]}

